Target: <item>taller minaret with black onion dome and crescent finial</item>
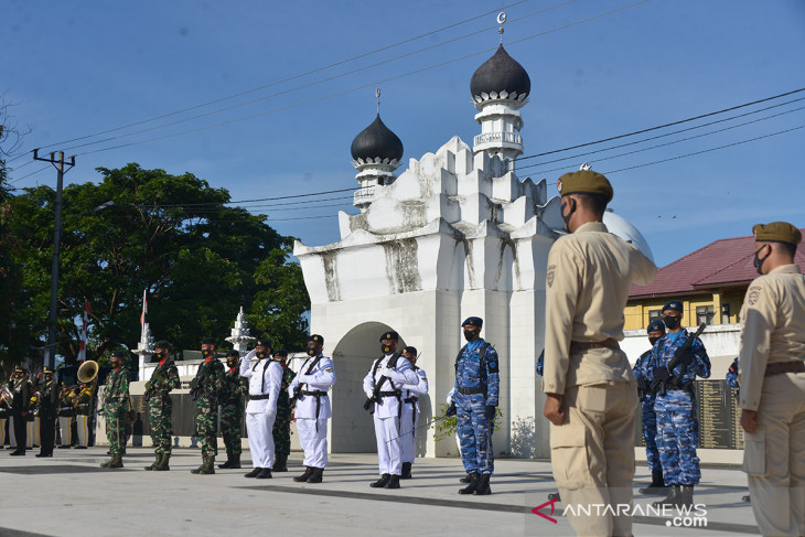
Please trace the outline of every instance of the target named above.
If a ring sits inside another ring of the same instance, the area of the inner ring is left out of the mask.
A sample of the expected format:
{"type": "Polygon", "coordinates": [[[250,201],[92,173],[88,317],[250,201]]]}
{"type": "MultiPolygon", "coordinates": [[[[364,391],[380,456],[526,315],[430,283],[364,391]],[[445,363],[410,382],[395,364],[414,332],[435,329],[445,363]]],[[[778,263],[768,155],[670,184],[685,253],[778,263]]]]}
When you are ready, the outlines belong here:
{"type": "Polygon", "coordinates": [[[532,80],[523,66],[508,55],[503,47],[503,23],[506,13],[497,15],[501,24],[501,45],[494,56],[489,58],[472,75],[470,93],[473,105],[480,111],[475,121],[481,123],[481,133],[475,137],[473,151],[486,151],[504,161],[512,161],[523,154],[523,118],[519,109],[528,103],[532,80]]]}

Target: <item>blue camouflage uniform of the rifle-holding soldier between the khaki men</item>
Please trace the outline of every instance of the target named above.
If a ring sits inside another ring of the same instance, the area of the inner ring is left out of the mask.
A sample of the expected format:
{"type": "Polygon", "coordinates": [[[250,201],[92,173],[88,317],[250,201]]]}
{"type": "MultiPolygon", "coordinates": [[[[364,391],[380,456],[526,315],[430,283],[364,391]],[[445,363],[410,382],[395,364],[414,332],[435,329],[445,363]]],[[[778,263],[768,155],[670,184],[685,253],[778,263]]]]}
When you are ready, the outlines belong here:
{"type": "MultiPolygon", "coordinates": [[[[667,367],[677,350],[693,334],[683,330],[668,333],[657,341],[651,356],[641,367],[650,386],[655,379],[654,369],[667,367]]],[[[676,379],[676,387],[667,387],[664,395],[657,393],[654,401],[654,411],[657,416],[656,443],[666,486],[696,485],[701,477],[699,458],[696,457],[699,427],[696,418],[694,380],[697,376],[701,378],[710,376],[710,358],[698,337],[690,346],[689,353],[693,357],[690,364],[677,364],[670,372],[672,380],[676,379]]]]}

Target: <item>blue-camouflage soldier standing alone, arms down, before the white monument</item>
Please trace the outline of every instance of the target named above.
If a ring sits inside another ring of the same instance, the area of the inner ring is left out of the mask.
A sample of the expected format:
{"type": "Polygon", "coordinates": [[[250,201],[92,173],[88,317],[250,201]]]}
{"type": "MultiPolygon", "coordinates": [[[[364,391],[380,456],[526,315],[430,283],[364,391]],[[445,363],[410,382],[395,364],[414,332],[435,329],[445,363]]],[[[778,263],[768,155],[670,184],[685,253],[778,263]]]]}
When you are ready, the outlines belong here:
{"type": "Polygon", "coordinates": [[[470,484],[459,494],[492,494],[490,476],[494,472],[492,432],[500,389],[497,352],[481,339],[483,320],[466,319],[462,325],[468,341],[455,358],[455,393],[461,462],[470,484]]]}

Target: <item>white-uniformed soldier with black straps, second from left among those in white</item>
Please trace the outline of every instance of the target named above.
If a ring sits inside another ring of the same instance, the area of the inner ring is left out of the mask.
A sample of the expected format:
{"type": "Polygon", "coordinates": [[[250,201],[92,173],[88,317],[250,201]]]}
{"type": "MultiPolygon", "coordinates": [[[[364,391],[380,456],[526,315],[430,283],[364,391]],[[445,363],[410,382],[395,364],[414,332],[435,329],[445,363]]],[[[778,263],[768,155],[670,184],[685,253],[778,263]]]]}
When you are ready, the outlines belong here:
{"type": "Polygon", "coordinates": [[[335,384],[333,361],[322,355],[324,337],[308,337],[308,356],[288,386],[296,405],[299,443],[304,450],[304,473],[293,477],[301,483],[321,483],[328,465],[328,419],[332,417],[328,391],[335,384]]]}

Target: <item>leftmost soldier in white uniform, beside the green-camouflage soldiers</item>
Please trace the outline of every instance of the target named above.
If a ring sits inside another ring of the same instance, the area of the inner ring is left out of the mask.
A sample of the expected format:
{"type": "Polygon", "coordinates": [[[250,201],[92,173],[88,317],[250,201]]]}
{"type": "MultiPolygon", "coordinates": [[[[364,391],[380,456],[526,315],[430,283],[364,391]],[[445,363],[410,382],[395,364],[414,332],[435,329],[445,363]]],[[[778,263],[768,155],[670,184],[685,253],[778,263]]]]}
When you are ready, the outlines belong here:
{"type": "Polygon", "coordinates": [[[240,363],[240,376],[249,379],[249,402],[246,405],[246,430],[254,470],[246,477],[271,479],[273,466],[273,420],[282,383],[282,365],[271,356],[268,340],[258,339],[254,351],[240,363]],[[255,359],[257,358],[257,359],[255,359]]]}

